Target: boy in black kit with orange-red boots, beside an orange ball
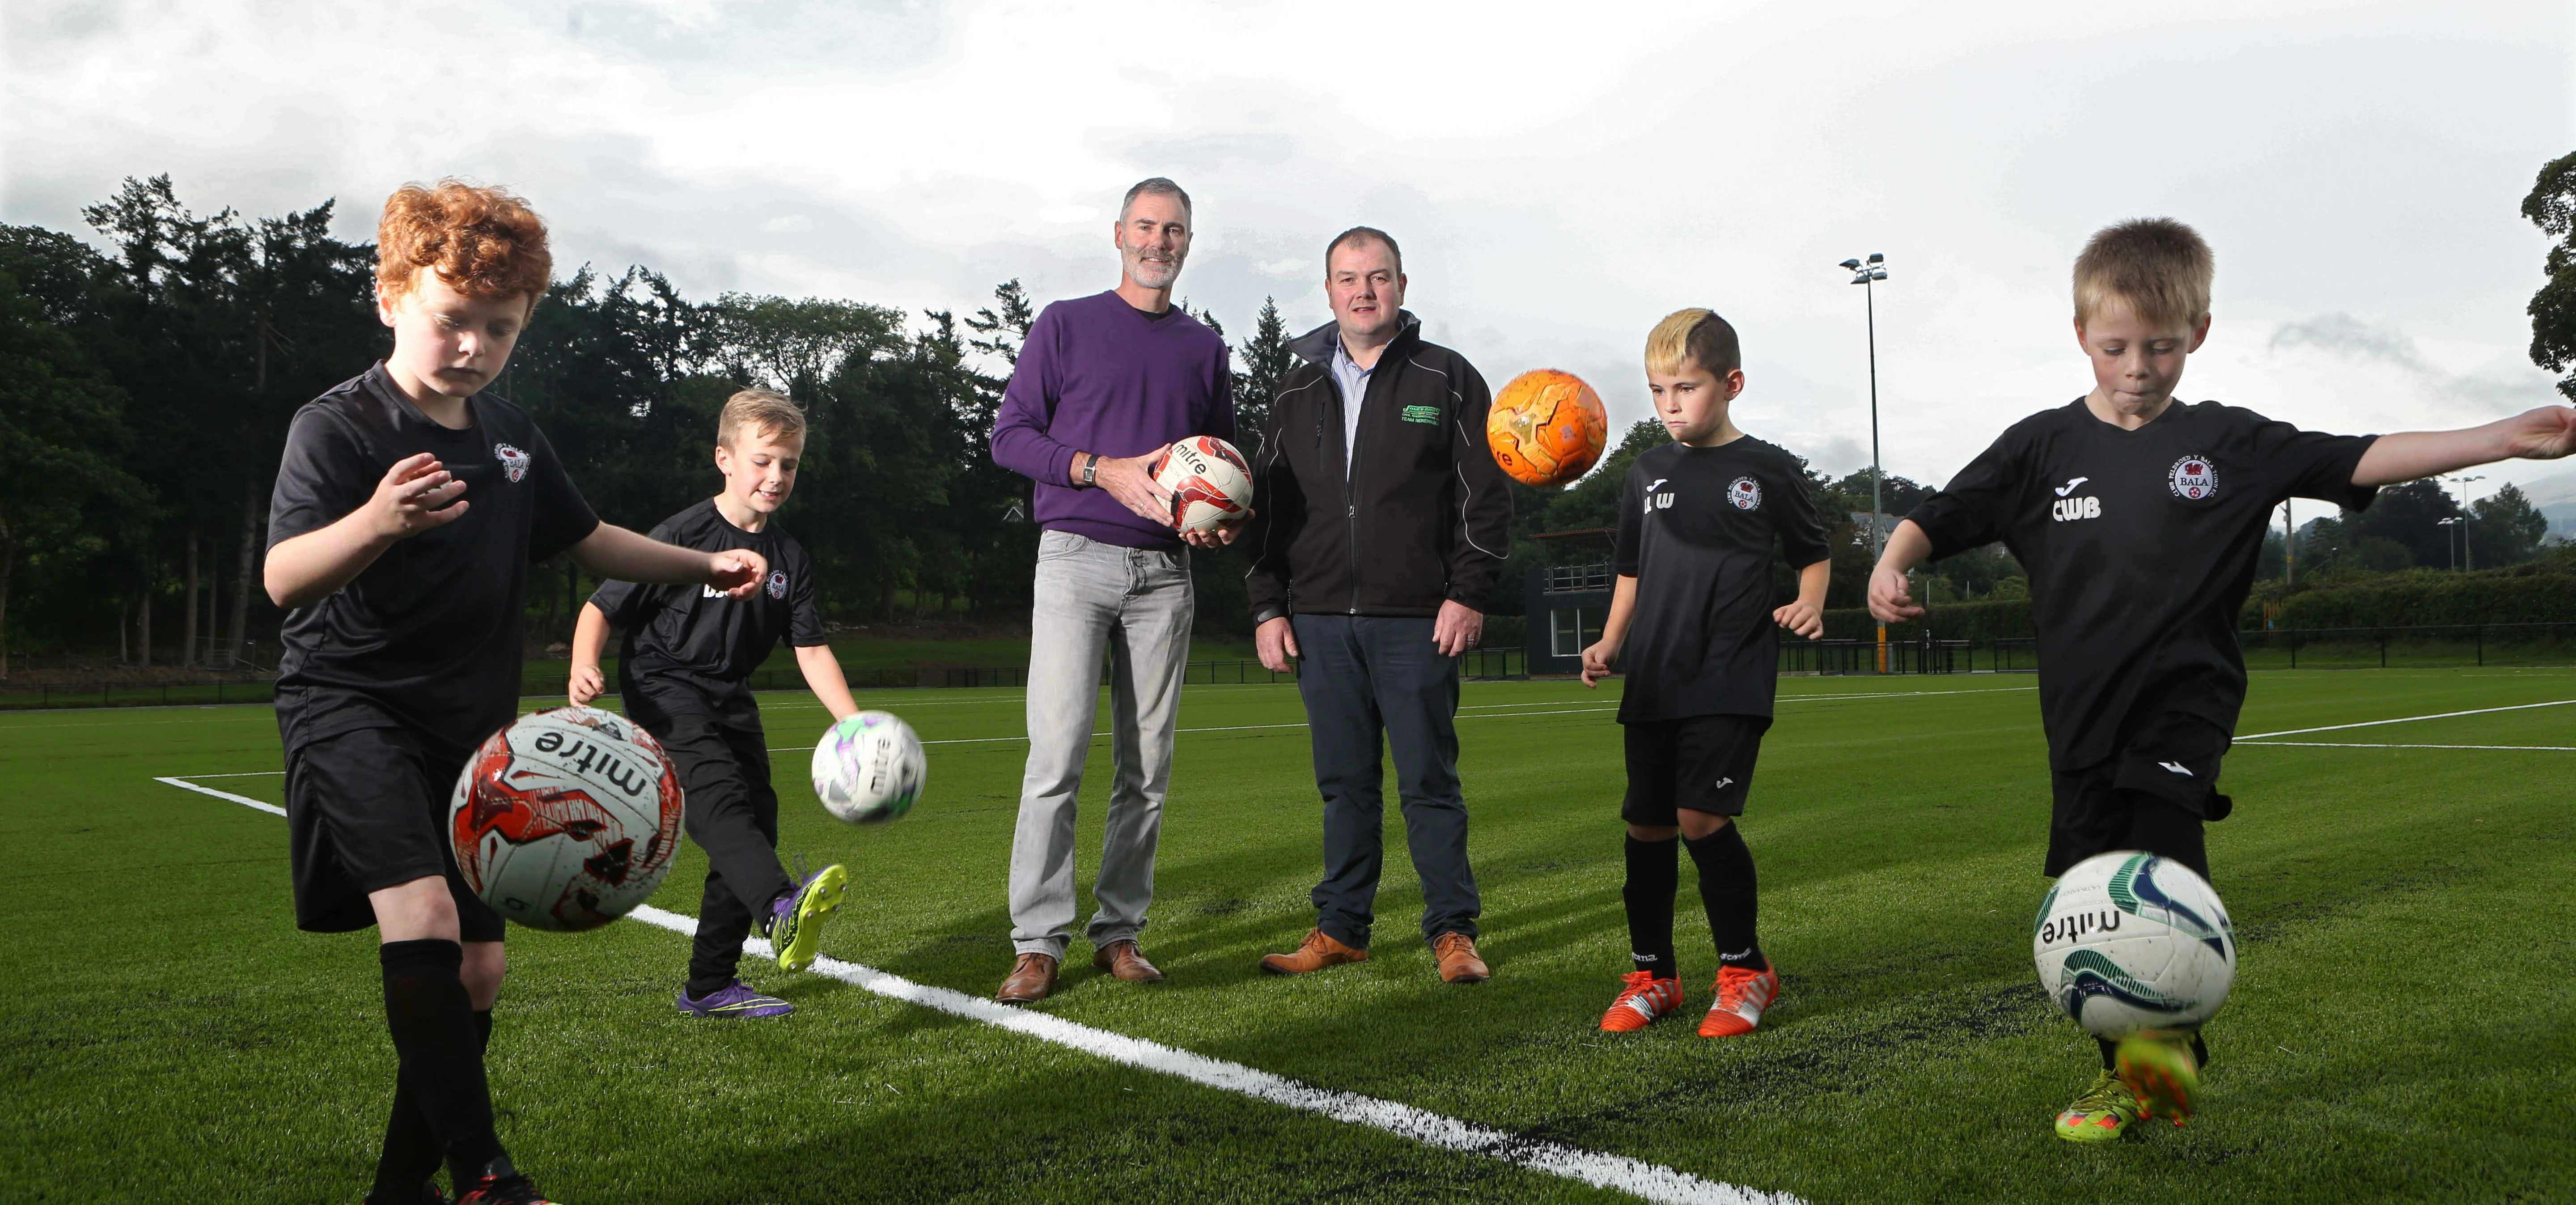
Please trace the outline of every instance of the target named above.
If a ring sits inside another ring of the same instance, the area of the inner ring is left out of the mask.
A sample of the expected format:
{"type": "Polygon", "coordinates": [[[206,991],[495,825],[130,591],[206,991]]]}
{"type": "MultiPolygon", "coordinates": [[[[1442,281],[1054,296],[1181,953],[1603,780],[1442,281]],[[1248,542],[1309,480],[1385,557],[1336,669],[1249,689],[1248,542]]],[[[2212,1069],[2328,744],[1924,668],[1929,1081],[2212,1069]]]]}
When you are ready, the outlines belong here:
{"type": "Polygon", "coordinates": [[[1744,355],[1726,319],[1682,309],[1659,322],[1646,337],[1646,386],[1674,443],[1628,469],[1618,587],[1600,644],[1584,649],[1587,687],[1610,675],[1620,649],[1628,654],[1618,721],[1628,742],[1620,819],[1633,968],[1602,1030],[1643,1030],[1682,1007],[1672,953],[1680,837],[1700,868],[1700,906],[1718,942],[1716,1002],[1700,1038],[1739,1038],[1780,996],[1780,973],[1754,940],[1754,855],[1731,816],[1744,814],[1772,721],[1772,628],[1824,636],[1832,564],[1806,466],[1728,417],[1744,391],[1744,355]],[[1772,605],[1772,541],[1798,569],[1798,600],[1785,608],[1772,605]]]}

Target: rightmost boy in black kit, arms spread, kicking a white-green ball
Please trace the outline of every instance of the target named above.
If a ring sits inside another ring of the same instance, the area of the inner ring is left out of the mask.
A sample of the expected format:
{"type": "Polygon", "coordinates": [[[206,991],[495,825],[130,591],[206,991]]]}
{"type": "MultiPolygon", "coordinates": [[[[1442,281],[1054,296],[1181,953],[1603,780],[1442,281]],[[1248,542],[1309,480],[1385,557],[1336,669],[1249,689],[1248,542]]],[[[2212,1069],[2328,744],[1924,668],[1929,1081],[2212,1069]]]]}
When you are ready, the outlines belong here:
{"type": "MultiPolygon", "coordinates": [[[[2349,510],[2383,484],[2476,463],[2558,458],[2576,412],[2483,427],[2318,435],[2218,402],[2174,404],[2210,332],[2210,247],[2172,219],[2102,229],[2074,270],[2076,340],[2094,391],[2004,430],[1914,507],[1870,577],[1870,613],[1919,618],[1917,564],[2004,541],[2030,574],[2053,814],[2043,873],[2141,850],[2208,878],[2202,824],[2226,819],[2218,762],[2246,695],[2236,613],[2272,510],[2349,510]]],[[[2102,1043],[2102,1071],[2056,1130],[2117,1138],[2141,1115],[2192,1112],[2197,1035],[2102,1043]]]]}

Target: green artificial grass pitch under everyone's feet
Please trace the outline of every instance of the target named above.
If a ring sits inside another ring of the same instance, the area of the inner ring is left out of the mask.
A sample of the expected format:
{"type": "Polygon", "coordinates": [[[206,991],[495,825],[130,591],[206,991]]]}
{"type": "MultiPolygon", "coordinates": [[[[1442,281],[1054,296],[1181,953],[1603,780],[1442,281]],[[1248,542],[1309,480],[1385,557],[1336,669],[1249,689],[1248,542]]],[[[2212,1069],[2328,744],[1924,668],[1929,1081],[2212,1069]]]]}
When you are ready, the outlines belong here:
{"type": "MultiPolygon", "coordinates": [[[[2076,1148],[2048,1123],[2094,1048],[2030,966],[2048,816],[2030,687],[1783,682],[1744,834],[1785,991],[1728,1043],[1692,1038],[1716,955],[1690,906],[1690,1007],[1638,1035],[1595,1030],[1628,971],[1615,682],[1466,685],[1494,981],[1463,989],[1437,984],[1417,940],[1394,798],[1376,958],[1255,968],[1311,924],[1301,708],[1288,685],[1190,687],[1180,726],[1211,731],[1180,736],[1144,932],[1170,981],[1092,973],[1077,940],[1043,1009],[1816,1202],[2548,1200],[2576,1182],[2576,752],[2421,747],[2576,747],[2576,708],[2239,744],[2210,860],[2241,968],[2210,1027],[2205,1112],[2076,1148]]],[[[2576,672],[2262,672],[2241,734],[2553,700],[2576,700],[2576,672]]],[[[881,829],[835,824],[804,785],[814,700],[762,698],[786,749],[786,852],[850,868],[824,953],[984,996],[1010,968],[1020,695],[863,705],[935,742],[920,808],[881,829]]],[[[276,770],[268,708],[0,716],[0,942],[18,978],[0,1004],[0,1197],[363,1195],[394,1066],[374,935],[294,932],[286,824],[155,783],[278,801],[276,770]]],[[[1105,788],[1097,739],[1084,886],[1105,788]]],[[[654,904],[696,914],[703,873],[688,847],[654,904]]],[[[685,953],[639,922],[510,932],[492,1084],[502,1141],[549,1195],[1625,1200],[750,960],[796,1017],[683,1020],[685,953]]]]}

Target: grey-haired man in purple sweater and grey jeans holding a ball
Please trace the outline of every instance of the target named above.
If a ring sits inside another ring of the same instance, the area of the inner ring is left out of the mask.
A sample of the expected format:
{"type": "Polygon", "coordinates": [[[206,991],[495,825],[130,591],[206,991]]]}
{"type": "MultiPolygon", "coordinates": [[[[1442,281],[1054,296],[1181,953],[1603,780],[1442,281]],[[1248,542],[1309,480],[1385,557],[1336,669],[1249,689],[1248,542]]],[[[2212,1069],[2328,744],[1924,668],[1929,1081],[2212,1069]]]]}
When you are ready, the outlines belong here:
{"type": "Polygon", "coordinates": [[[1056,989],[1074,927],[1074,796],[1092,747],[1100,659],[1110,659],[1110,821],[1087,937],[1092,966],[1162,978],[1136,948],[1154,899],[1154,839],[1172,780],[1172,721],[1190,659],[1190,548],[1172,494],[1146,471],[1190,435],[1234,438],[1226,340],[1172,306],[1190,255],[1190,193],[1128,188],[1115,229],[1118,288],[1056,301],[1028,327],[992,425],[992,458],[1036,481],[1038,579],[1028,639],[1028,770],[1010,842],[1010,940],[994,991],[1030,1004],[1056,989]]]}

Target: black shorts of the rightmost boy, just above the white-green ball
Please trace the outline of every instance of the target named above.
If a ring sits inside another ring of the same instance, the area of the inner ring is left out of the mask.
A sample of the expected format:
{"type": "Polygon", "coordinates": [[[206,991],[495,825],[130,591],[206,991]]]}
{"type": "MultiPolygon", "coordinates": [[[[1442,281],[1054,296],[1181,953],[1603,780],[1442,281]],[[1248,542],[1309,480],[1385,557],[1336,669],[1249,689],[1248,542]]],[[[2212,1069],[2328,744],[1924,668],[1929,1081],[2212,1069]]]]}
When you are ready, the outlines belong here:
{"type": "Polygon", "coordinates": [[[2110,760],[2050,772],[2048,863],[2040,873],[2063,875],[2094,855],[2143,850],[2208,878],[2200,824],[2236,808],[2218,793],[2218,762],[2228,744],[2233,736],[2200,716],[2161,713],[2110,760]]]}

